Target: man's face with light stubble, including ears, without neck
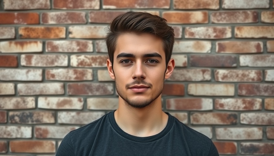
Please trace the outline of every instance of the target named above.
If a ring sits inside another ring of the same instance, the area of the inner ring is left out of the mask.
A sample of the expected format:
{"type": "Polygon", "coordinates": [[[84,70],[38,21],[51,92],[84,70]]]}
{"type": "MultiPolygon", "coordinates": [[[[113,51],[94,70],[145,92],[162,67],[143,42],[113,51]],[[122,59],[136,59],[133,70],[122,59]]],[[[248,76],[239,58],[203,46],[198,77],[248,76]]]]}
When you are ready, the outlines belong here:
{"type": "Polygon", "coordinates": [[[120,35],[113,66],[109,60],[107,65],[111,78],[115,79],[117,93],[126,104],[134,108],[144,108],[161,98],[164,79],[172,73],[169,71],[170,66],[165,70],[162,40],[151,34],[120,35]]]}

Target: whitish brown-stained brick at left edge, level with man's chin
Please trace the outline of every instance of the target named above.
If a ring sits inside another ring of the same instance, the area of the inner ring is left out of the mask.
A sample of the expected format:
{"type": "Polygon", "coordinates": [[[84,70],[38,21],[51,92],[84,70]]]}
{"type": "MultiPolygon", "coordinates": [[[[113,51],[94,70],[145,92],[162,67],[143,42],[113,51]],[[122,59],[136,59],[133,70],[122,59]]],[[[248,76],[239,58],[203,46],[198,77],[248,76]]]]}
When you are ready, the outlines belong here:
{"type": "Polygon", "coordinates": [[[34,97],[0,97],[0,109],[33,109],[34,97]]]}

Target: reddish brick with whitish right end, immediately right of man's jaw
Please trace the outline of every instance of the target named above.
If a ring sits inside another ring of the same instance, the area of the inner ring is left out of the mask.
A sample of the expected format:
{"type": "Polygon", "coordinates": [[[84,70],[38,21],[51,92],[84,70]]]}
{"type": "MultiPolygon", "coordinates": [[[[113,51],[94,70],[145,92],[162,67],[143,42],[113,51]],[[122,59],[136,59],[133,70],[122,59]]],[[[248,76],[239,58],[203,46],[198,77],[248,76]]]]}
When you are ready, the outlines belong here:
{"type": "Polygon", "coordinates": [[[168,110],[212,110],[213,101],[209,98],[171,98],[166,100],[168,110]]]}

